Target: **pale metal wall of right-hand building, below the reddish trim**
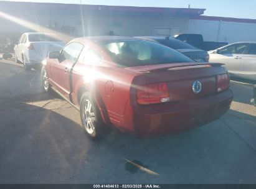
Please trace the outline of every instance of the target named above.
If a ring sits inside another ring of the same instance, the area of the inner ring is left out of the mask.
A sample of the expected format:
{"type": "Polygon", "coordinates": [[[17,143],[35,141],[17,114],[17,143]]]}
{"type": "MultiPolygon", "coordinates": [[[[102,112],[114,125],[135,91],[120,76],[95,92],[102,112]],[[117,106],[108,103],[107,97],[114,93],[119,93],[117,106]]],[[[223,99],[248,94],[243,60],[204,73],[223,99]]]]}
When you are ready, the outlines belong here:
{"type": "Polygon", "coordinates": [[[189,33],[202,34],[206,41],[228,43],[256,41],[256,24],[191,19],[189,33]]]}

